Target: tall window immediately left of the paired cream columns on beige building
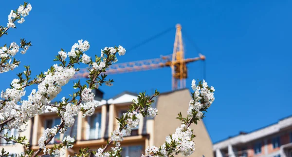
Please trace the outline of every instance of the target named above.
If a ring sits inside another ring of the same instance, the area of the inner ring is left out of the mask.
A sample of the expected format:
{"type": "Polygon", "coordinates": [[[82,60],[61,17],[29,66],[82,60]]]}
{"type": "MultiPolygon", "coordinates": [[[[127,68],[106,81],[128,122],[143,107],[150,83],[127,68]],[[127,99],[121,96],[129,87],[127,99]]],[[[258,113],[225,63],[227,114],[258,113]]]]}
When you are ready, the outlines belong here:
{"type": "Polygon", "coordinates": [[[87,117],[89,128],[87,128],[86,139],[101,138],[101,113],[95,113],[87,117]]]}

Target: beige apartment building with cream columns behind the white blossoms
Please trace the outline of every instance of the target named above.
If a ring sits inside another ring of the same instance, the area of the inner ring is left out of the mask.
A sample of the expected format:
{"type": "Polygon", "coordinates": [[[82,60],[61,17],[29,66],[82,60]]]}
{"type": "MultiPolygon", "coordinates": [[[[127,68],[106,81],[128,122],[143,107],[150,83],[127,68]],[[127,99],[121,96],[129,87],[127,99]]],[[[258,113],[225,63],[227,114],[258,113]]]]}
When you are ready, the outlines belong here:
{"type": "MultiPolygon", "coordinates": [[[[105,146],[107,140],[110,139],[110,133],[118,127],[116,117],[120,117],[127,112],[132,100],[137,98],[135,93],[123,92],[105,100],[103,99],[103,92],[100,90],[94,92],[95,101],[99,102],[99,106],[95,108],[95,113],[86,118],[82,118],[82,114],[79,113],[75,117],[74,125],[68,128],[64,134],[57,134],[47,145],[47,148],[59,143],[67,135],[75,137],[76,140],[73,148],[67,150],[64,157],[73,156],[79,148],[89,147],[91,150],[96,150],[105,146]]],[[[188,89],[161,93],[159,97],[155,98],[155,103],[152,106],[158,109],[158,116],[141,118],[139,125],[132,130],[131,135],[124,137],[124,141],[121,142],[122,156],[141,157],[142,154],[145,154],[144,151],[147,146],[162,145],[165,142],[165,137],[174,133],[175,129],[180,126],[181,122],[176,119],[177,114],[182,112],[183,115],[186,115],[190,99],[191,95],[188,89]]],[[[48,111],[32,119],[31,133],[29,133],[32,134],[32,149],[38,149],[37,140],[43,135],[46,128],[52,128],[60,122],[61,119],[57,117],[54,111],[48,111]]],[[[200,144],[196,145],[196,150],[191,157],[202,157],[202,155],[213,157],[212,142],[203,121],[199,121],[198,125],[193,125],[192,128],[197,135],[195,142],[200,144]]],[[[14,146],[10,147],[13,148],[14,146]]]]}

